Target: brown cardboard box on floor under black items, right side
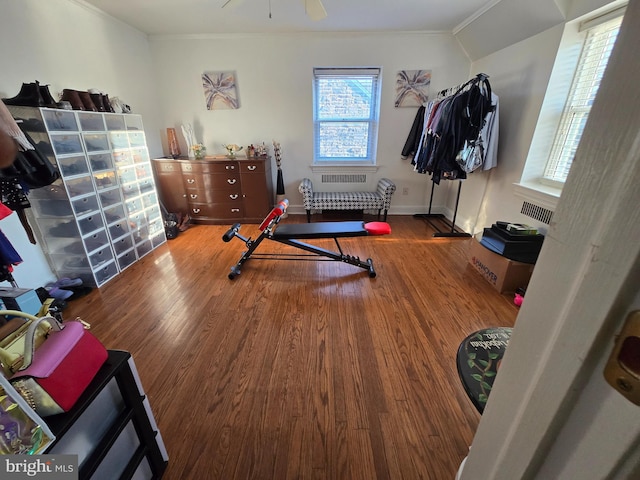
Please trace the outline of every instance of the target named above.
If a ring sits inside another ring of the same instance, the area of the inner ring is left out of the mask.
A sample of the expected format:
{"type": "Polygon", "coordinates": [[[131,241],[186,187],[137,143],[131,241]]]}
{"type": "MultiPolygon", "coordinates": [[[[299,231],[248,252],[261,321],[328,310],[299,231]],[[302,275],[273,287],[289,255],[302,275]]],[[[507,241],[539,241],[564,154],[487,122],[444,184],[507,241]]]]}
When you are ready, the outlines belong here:
{"type": "Polygon", "coordinates": [[[534,265],[509,260],[485,248],[477,240],[471,242],[469,263],[500,293],[515,292],[526,287],[534,265]]]}

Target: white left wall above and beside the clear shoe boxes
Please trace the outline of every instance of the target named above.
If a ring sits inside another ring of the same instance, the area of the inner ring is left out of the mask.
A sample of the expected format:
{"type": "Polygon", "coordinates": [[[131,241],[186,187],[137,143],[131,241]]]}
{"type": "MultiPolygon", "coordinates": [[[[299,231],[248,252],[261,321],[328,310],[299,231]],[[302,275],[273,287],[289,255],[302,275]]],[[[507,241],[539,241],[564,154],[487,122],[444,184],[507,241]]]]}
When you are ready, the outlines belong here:
{"type": "MultiPolygon", "coordinates": [[[[158,102],[145,35],[110,17],[67,0],[0,0],[0,97],[15,96],[22,83],[49,84],[54,98],[63,88],[99,88],[120,97],[144,116],[148,142],[161,152],[158,102]]],[[[39,246],[31,245],[14,213],[0,230],[24,262],[14,278],[36,288],[53,280],[39,246]]]]}

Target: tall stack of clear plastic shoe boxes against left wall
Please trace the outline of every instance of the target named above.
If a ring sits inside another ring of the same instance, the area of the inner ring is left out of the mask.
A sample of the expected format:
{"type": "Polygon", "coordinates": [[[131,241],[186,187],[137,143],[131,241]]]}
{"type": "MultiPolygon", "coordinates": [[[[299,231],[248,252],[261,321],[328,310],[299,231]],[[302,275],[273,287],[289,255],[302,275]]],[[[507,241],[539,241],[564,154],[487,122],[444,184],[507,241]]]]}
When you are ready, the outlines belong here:
{"type": "Polygon", "coordinates": [[[8,108],[60,171],[28,209],[57,278],[99,287],[166,242],[140,115],[8,108]]]}

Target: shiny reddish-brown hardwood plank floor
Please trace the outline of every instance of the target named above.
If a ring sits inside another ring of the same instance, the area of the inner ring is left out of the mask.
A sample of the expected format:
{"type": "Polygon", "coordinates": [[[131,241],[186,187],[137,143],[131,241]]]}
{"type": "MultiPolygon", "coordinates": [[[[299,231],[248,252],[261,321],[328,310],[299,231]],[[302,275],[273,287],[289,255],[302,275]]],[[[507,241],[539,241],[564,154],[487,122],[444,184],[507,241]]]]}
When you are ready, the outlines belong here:
{"type": "Polygon", "coordinates": [[[517,307],[468,265],[470,239],[389,223],[389,236],[341,241],[373,258],[374,279],[340,262],[251,259],[231,281],[245,245],[222,242],[227,225],[197,225],[70,302],[64,318],[132,353],[165,479],[455,477],[480,418],[456,350],[472,331],[513,326],[517,307]]]}

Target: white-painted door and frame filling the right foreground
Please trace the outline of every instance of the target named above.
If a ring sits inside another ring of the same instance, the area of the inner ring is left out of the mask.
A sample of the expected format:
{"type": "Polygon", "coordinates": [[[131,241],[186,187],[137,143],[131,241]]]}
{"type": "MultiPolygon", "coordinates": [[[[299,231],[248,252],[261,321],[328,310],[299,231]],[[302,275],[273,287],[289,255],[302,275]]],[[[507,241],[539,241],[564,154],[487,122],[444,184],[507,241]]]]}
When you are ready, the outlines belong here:
{"type": "Polygon", "coordinates": [[[640,308],[640,0],[630,0],[462,480],[640,479],[603,368],[640,308]]]}

